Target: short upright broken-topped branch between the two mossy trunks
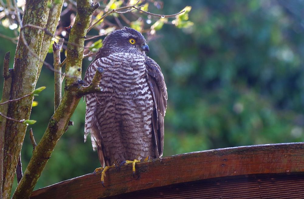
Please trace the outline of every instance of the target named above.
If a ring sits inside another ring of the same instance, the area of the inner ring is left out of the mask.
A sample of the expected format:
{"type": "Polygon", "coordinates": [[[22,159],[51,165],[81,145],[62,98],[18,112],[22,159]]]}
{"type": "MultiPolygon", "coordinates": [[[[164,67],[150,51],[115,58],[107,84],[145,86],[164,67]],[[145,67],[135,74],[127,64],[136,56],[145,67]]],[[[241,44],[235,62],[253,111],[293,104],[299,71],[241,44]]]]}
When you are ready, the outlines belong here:
{"type": "Polygon", "coordinates": [[[58,44],[53,44],[54,54],[54,69],[60,73],[54,73],[54,111],[57,109],[61,102],[61,68],[60,68],[60,50],[64,43],[64,39],[59,39],[58,44]]]}

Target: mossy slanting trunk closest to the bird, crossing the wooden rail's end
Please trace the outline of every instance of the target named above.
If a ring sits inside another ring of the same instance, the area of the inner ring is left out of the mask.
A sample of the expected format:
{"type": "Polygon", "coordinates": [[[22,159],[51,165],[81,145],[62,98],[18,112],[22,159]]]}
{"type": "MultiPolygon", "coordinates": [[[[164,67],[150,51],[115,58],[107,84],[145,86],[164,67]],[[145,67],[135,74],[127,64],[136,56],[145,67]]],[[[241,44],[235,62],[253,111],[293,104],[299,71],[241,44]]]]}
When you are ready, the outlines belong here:
{"type": "MultiPolygon", "coordinates": [[[[69,35],[66,62],[66,71],[74,71],[74,74],[73,76],[66,78],[66,89],[62,100],[54,115],[51,117],[43,137],[33,150],[33,156],[26,167],[24,175],[18,184],[12,199],[28,198],[30,196],[47,160],[50,158],[60,137],[65,132],[70,118],[82,97],[79,93],[81,93],[81,90],[84,88],[79,83],[79,80],[81,79],[84,37],[87,33],[92,13],[98,6],[99,4],[93,5],[90,0],[77,1],[77,14],[75,25],[69,35]],[[73,70],[73,68],[76,68],[76,70],[73,70]]],[[[97,76],[99,75],[97,74],[97,76]]],[[[99,78],[101,78],[101,75],[99,78]]],[[[95,90],[92,92],[95,92],[95,90]]]]}

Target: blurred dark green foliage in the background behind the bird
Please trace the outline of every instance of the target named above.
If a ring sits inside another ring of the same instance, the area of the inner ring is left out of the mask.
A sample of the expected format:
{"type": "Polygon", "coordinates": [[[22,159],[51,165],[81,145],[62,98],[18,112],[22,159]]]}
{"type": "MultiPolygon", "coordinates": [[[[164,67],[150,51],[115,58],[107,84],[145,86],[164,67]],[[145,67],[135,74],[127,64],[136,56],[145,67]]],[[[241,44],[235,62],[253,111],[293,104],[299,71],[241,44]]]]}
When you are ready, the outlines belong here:
{"type": "MultiPolygon", "coordinates": [[[[295,11],[304,6],[295,3],[295,11]]],[[[149,12],[172,14],[186,6],[192,6],[188,13],[192,26],[177,29],[175,25],[185,27],[181,15],[148,37],[149,56],[161,66],[168,86],[164,156],[304,141],[303,19],[286,3],[264,0],[169,0],[161,11],[149,6],[149,12]]],[[[141,17],[142,22],[150,20],[141,17]]],[[[157,20],[153,23],[164,22],[157,20]]],[[[12,31],[0,26],[0,33],[12,31]]],[[[9,50],[13,57],[14,44],[1,42],[0,57],[9,50]]],[[[52,54],[47,61],[52,62],[52,54]]],[[[84,61],[84,72],[89,63],[84,61]]],[[[37,120],[31,125],[37,142],[54,111],[53,73],[46,68],[40,86],[47,88],[35,97],[39,105],[31,115],[37,120]]],[[[85,103],[80,102],[72,117],[74,126],[57,144],[36,188],[91,173],[99,166],[90,140],[83,143],[84,116],[85,103]]],[[[23,169],[32,150],[27,134],[23,169]]]]}

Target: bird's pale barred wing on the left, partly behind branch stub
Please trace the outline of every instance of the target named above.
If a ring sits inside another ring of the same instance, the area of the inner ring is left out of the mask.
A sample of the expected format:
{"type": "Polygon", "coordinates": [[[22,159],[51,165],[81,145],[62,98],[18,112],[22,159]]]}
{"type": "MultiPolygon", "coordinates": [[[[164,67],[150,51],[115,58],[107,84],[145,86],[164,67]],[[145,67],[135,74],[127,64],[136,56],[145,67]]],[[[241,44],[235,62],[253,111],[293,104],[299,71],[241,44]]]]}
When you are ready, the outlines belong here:
{"type": "MultiPolygon", "coordinates": [[[[99,58],[96,59],[88,66],[87,71],[85,72],[84,82],[85,85],[88,86],[96,73],[96,69],[98,67],[104,68],[101,65],[99,58]]],[[[91,134],[91,141],[93,150],[97,150],[100,164],[102,167],[110,166],[111,162],[109,160],[109,156],[105,154],[104,145],[102,135],[100,133],[99,124],[96,121],[96,106],[99,103],[97,96],[95,94],[88,94],[86,96],[86,111],[85,111],[85,141],[87,139],[88,134],[91,134]]]]}

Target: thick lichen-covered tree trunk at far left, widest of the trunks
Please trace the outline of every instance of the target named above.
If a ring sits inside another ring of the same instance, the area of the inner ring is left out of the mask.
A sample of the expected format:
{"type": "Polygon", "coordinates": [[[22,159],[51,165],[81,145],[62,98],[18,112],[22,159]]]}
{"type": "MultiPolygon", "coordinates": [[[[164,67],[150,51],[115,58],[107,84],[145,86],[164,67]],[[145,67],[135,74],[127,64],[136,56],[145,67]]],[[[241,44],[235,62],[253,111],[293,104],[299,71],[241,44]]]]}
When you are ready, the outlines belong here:
{"type": "MultiPolygon", "coordinates": [[[[45,27],[49,8],[47,1],[27,0],[22,24],[33,24],[45,27]]],[[[32,55],[28,47],[40,56],[43,41],[43,30],[26,27],[24,39],[28,46],[19,39],[14,62],[14,78],[12,79],[10,99],[16,99],[33,92],[36,86],[36,78],[39,59],[32,55]]],[[[21,32],[19,38],[21,38],[21,32]]],[[[32,110],[33,97],[29,96],[9,104],[8,116],[17,120],[29,119],[32,110]]],[[[24,140],[26,125],[12,120],[6,121],[4,160],[3,160],[3,199],[8,199],[12,190],[14,174],[18,163],[19,154],[24,140]]]]}

